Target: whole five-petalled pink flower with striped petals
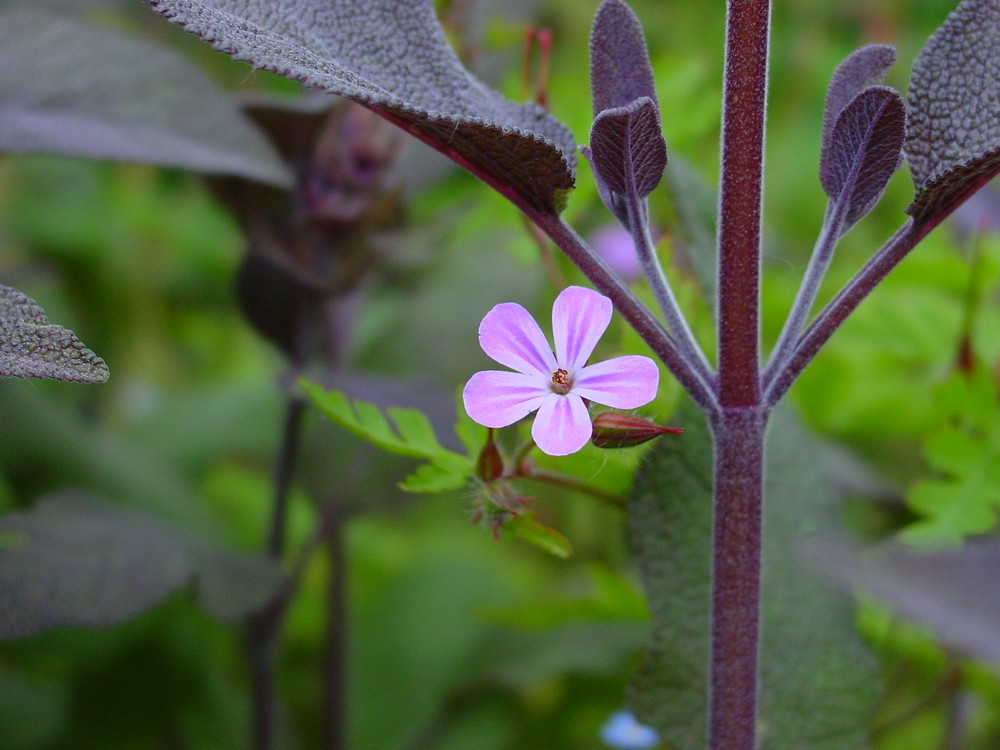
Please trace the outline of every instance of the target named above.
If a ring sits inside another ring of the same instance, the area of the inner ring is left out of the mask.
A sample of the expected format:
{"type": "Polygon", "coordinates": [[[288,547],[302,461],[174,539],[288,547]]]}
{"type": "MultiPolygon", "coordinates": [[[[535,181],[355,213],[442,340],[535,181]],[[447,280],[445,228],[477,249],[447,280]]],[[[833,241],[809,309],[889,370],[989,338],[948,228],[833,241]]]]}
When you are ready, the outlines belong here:
{"type": "Polygon", "coordinates": [[[610,322],[610,299],[568,287],[552,305],[553,352],[527,310],[513,302],[497,305],[479,325],[479,344],[516,372],[477,372],[462,392],[465,410],[486,427],[506,427],[537,410],[531,436],[543,452],[565,456],[580,450],[592,432],[584,399],[634,409],[652,401],[659,385],[660,372],[649,357],[586,364],[610,322]]]}

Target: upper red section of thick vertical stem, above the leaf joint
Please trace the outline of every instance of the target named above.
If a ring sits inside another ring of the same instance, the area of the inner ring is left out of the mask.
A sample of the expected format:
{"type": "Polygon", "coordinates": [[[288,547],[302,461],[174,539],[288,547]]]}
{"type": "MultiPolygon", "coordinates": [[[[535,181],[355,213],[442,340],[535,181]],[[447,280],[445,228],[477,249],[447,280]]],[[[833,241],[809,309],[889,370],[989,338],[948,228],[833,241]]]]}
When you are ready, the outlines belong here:
{"type": "Polygon", "coordinates": [[[760,401],[760,219],[768,0],[729,0],[719,192],[719,401],[760,401]]]}

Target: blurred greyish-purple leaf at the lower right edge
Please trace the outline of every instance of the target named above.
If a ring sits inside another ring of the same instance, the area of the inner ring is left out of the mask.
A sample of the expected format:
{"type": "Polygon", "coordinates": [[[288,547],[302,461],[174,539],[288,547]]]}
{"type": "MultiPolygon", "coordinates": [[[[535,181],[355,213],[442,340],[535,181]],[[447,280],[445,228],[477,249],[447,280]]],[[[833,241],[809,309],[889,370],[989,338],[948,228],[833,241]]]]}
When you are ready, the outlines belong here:
{"type": "Polygon", "coordinates": [[[858,551],[846,542],[824,542],[804,554],[842,583],[929,625],[945,643],[1000,662],[1000,537],[947,551],[895,541],[858,551]]]}

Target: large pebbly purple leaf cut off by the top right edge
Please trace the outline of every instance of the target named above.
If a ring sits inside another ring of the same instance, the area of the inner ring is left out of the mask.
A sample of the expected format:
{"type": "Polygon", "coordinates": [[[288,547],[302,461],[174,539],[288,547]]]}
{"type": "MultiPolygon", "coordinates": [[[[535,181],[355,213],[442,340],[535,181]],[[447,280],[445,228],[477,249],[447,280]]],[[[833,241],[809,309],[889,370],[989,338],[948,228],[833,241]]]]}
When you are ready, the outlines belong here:
{"type": "Polygon", "coordinates": [[[963,0],[913,64],[904,151],[917,195],[906,209],[936,224],[1000,172],[1000,4],[963,0]]]}

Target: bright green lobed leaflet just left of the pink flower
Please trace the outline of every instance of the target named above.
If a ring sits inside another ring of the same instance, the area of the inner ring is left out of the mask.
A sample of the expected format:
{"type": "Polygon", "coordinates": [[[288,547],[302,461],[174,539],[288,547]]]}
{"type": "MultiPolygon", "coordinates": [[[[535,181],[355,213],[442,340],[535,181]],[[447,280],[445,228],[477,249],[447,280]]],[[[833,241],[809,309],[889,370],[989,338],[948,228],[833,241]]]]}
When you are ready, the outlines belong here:
{"type": "MultiPolygon", "coordinates": [[[[300,379],[299,384],[320,411],[361,439],[390,453],[428,461],[400,482],[400,489],[443,492],[464,487],[469,481],[475,466],[473,459],[443,447],[430,420],[419,409],[390,406],[383,414],[375,404],[352,401],[340,391],[327,391],[307,380],[300,379]]],[[[472,441],[465,438],[471,436],[468,429],[464,432],[461,436],[468,446],[472,441]]]]}

